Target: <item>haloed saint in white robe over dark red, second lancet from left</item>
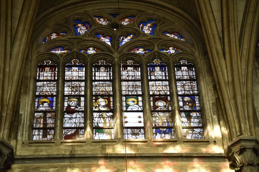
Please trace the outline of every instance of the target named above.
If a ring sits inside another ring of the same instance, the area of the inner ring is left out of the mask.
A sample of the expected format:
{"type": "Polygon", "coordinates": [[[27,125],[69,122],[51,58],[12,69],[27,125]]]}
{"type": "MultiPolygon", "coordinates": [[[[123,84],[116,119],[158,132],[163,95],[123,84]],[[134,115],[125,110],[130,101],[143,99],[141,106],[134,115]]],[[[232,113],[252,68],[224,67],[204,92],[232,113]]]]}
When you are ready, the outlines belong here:
{"type": "MultiPolygon", "coordinates": [[[[71,98],[68,100],[66,111],[83,110],[78,107],[78,100],[71,98]]],[[[64,127],[83,127],[84,113],[83,112],[66,112],[64,114],[64,127]]],[[[79,139],[79,129],[64,129],[64,140],[79,139]]]]}

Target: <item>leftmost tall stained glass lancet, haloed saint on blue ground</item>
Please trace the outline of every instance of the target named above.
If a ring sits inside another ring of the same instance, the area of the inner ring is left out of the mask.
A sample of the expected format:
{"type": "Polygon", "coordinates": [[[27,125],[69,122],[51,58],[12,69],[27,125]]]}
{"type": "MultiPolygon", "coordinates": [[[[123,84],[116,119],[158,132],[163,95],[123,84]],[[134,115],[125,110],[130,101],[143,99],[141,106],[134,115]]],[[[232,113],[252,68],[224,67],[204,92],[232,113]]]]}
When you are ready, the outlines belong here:
{"type": "Polygon", "coordinates": [[[32,140],[54,140],[57,65],[46,60],[37,69],[32,140]]]}

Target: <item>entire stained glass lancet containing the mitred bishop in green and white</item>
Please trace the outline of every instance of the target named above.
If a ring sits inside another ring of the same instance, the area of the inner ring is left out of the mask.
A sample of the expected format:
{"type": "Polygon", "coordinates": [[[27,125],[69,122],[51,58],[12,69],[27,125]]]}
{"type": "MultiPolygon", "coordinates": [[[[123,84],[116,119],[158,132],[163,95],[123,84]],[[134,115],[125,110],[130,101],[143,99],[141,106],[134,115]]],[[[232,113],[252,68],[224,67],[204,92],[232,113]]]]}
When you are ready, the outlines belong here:
{"type": "Polygon", "coordinates": [[[112,66],[104,60],[93,65],[93,139],[113,139],[112,66]]]}

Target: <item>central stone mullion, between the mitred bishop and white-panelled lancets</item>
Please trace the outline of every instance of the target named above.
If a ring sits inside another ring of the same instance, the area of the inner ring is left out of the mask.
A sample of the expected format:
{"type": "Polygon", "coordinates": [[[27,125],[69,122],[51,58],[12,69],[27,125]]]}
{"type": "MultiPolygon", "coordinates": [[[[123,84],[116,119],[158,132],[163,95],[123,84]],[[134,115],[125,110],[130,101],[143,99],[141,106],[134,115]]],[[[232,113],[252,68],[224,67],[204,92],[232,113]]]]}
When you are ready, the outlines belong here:
{"type": "MultiPolygon", "coordinates": [[[[114,138],[117,138],[118,140],[121,140],[121,136],[123,136],[123,130],[121,130],[121,124],[122,124],[122,97],[121,97],[121,63],[119,62],[118,58],[114,59],[114,70],[113,70],[113,101],[115,104],[115,107],[113,107],[113,121],[114,122],[114,138]]],[[[124,138],[124,137],[123,137],[124,138]]]]}

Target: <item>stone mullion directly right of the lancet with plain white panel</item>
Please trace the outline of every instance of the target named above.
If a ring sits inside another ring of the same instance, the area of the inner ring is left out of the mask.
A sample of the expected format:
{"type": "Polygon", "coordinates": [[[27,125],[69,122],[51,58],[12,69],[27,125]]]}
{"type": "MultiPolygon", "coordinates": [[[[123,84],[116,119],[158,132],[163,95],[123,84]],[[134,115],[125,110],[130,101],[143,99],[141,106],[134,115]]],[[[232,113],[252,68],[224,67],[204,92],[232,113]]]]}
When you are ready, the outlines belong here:
{"type": "Polygon", "coordinates": [[[146,59],[142,58],[142,76],[141,76],[141,83],[142,83],[142,100],[143,100],[143,116],[145,122],[145,136],[149,140],[153,138],[153,123],[152,123],[152,112],[151,112],[151,103],[150,103],[150,93],[149,93],[149,81],[148,81],[148,71],[147,71],[147,63],[146,59]],[[144,110],[145,108],[145,110],[144,110]]]}

